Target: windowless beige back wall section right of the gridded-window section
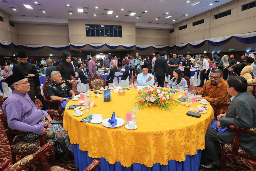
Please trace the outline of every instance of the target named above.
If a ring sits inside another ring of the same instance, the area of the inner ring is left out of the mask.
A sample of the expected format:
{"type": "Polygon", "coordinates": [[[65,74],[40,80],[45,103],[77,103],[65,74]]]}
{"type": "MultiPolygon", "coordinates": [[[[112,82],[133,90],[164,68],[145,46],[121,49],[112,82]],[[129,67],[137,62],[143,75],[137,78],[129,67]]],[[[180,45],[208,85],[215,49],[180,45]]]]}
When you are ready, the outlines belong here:
{"type": "Polygon", "coordinates": [[[136,29],[137,45],[167,45],[169,30],[136,29]]]}

